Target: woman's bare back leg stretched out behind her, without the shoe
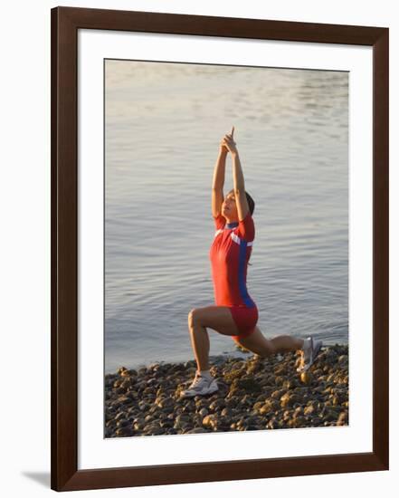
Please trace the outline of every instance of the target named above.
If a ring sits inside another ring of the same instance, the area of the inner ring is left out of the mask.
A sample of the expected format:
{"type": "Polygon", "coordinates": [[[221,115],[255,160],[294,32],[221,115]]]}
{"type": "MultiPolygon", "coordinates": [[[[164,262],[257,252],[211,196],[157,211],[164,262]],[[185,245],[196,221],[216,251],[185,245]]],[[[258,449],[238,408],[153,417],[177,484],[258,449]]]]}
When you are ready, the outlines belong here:
{"type": "Polygon", "coordinates": [[[288,351],[301,350],[304,340],[290,335],[280,335],[271,340],[267,340],[261,333],[259,327],[255,328],[252,334],[245,338],[236,340],[246,350],[252,351],[261,357],[267,357],[275,353],[285,353],[288,351]]]}

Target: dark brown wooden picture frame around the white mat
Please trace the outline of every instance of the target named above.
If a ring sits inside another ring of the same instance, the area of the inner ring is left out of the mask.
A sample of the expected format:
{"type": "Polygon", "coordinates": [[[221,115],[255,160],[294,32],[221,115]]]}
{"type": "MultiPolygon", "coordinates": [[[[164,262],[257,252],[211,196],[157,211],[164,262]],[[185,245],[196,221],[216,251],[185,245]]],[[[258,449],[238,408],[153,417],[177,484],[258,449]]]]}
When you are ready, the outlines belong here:
{"type": "Polygon", "coordinates": [[[52,9],[52,489],[388,469],[388,28],[56,7],[52,9]],[[373,47],[373,451],[78,470],[78,29],[373,47]],[[378,376],[376,376],[378,372],[378,376]]]}

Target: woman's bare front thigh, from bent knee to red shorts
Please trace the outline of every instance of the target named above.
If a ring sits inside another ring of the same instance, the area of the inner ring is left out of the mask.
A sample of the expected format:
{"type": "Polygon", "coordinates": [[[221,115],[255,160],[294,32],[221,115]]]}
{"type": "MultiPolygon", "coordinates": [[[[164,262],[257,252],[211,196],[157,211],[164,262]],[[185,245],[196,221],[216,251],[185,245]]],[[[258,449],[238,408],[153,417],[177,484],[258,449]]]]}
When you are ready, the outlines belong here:
{"type": "Polygon", "coordinates": [[[188,321],[196,321],[201,326],[216,330],[223,335],[238,335],[235,321],[228,306],[205,306],[189,312],[188,321]]]}

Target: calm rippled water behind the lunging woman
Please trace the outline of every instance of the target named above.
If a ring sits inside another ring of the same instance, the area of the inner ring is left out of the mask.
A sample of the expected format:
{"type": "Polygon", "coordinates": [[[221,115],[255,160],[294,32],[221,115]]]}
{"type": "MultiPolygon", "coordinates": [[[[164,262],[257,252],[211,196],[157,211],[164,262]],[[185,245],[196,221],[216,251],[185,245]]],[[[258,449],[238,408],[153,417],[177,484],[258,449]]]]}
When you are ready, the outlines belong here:
{"type": "MultiPolygon", "coordinates": [[[[214,304],[210,187],[233,125],[261,330],[347,342],[347,72],[107,61],[105,114],[106,372],[194,358],[187,314],[214,304]]],[[[234,350],[209,333],[211,354],[234,350]]]]}

